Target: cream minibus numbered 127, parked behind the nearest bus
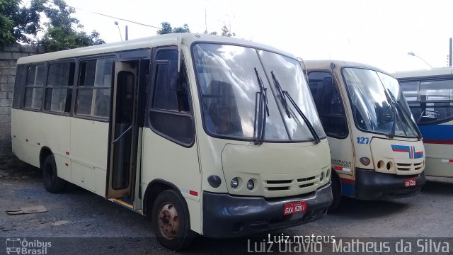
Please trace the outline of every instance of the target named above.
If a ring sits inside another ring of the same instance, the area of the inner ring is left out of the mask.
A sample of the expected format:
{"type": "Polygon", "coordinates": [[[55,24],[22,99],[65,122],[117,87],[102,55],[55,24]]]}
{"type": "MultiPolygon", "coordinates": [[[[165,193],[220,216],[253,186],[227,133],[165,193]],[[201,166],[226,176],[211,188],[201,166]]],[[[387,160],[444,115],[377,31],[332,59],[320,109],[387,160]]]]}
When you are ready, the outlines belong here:
{"type": "Polygon", "coordinates": [[[331,210],[340,194],[379,200],[419,193],[425,149],[398,81],[343,61],[307,61],[306,71],[336,170],[331,210]]]}

